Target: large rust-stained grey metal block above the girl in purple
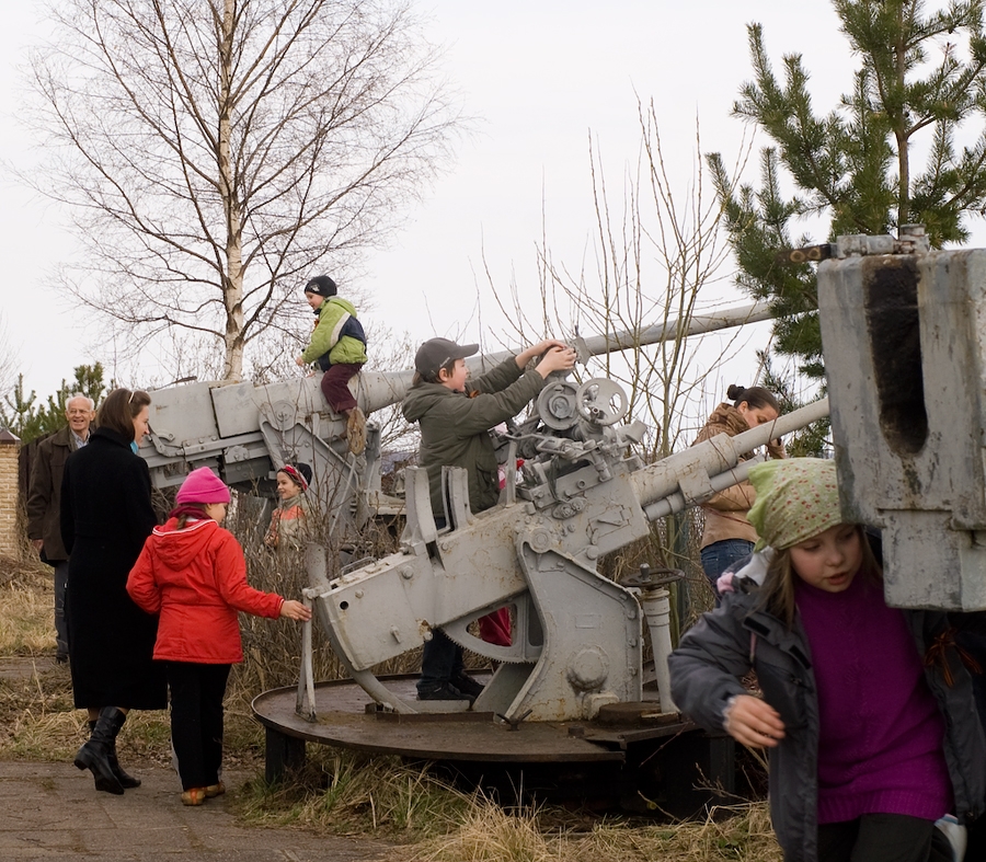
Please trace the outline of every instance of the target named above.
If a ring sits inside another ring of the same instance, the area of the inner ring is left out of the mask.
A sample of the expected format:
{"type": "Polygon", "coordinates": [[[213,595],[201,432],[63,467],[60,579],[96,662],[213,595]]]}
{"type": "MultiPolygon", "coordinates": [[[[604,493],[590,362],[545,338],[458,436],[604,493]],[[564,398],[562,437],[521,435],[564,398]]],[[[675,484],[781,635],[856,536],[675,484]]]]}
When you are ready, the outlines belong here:
{"type": "Polygon", "coordinates": [[[888,605],[982,611],[986,251],[839,242],[818,310],[842,518],[882,530],[888,605]]]}

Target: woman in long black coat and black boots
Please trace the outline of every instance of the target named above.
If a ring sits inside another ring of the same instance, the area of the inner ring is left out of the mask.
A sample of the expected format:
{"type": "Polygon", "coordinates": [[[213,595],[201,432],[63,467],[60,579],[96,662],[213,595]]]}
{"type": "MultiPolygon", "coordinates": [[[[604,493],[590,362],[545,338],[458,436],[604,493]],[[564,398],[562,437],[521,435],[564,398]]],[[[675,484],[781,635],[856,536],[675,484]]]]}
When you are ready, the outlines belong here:
{"type": "Polygon", "coordinates": [[[92,771],[96,790],[116,794],[140,784],[116,758],[116,735],[127,712],[167,705],[164,675],[151,659],[157,617],[140,610],[126,588],[157,524],[150,472],[131,450],[148,433],[149,404],[150,395],[140,390],[111,392],[89,445],[66,462],[61,484],[72,690],[92,728],[74,762],[92,771]]]}

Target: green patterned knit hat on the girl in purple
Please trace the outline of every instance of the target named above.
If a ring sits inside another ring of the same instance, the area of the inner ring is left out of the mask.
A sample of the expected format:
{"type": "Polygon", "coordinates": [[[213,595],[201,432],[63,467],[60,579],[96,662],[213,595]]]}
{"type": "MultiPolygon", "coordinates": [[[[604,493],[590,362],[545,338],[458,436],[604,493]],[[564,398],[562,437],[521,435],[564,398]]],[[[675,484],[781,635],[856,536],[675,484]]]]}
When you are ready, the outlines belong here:
{"type": "Polygon", "coordinates": [[[786,458],[749,469],[757,501],[749,522],[760,540],[782,551],[842,522],[835,461],[786,458]]]}

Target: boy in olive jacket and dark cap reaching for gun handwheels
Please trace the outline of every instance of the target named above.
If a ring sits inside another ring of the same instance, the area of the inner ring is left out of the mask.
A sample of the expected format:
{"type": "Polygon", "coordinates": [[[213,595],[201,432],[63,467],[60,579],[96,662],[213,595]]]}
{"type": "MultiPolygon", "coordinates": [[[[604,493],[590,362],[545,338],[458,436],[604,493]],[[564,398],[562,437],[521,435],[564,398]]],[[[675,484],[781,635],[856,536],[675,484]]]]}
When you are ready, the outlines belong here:
{"type": "MultiPolygon", "coordinates": [[[[575,364],[573,349],[549,338],[467,382],[466,357],[478,350],[477,344],[459,345],[448,338],[426,341],[414,357],[416,373],[404,396],[404,418],[421,425],[420,461],[428,471],[438,527],[445,526],[442,468],[466,469],[472,512],[495,506],[500,479],[490,429],[519,413],[541,391],[548,375],[575,364]],[[542,354],[536,368],[525,370],[542,354]]],[[[462,648],[435,629],[424,645],[419,699],[471,701],[480,691],[482,686],[463,671],[462,648]]]]}

